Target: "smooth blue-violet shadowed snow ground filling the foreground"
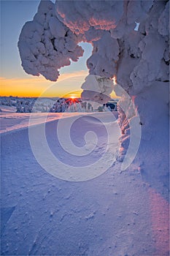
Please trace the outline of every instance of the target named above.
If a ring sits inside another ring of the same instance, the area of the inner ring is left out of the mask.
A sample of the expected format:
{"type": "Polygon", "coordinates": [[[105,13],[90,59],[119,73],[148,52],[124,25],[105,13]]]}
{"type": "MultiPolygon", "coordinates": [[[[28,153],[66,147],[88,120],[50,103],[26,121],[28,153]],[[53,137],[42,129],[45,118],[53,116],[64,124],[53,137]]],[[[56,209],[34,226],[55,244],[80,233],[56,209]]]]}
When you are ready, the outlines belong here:
{"type": "MultiPolygon", "coordinates": [[[[16,115],[19,121],[22,114],[16,115]]],[[[84,125],[92,121],[89,115],[84,118],[85,123],[77,122],[72,130],[77,146],[83,142],[84,125]]],[[[64,120],[69,125],[70,118],[64,120]]],[[[46,138],[61,161],[81,171],[104,151],[107,134],[99,128],[101,143],[92,156],[75,162],[56,140],[57,125],[57,120],[46,123],[46,138]]],[[[31,129],[39,132],[41,126],[31,129]]],[[[98,127],[96,119],[92,127],[98,127]]],[[[147,159],[152,157],[150,145],[141,150],[147,159]]],[[[1,159],[1,255],[169,255],[169,203],[139,163],[120,171],[120,162],[115,162],[89,181],[63,181],[36,162],[28,127],[1,134],[1,159]]]]}

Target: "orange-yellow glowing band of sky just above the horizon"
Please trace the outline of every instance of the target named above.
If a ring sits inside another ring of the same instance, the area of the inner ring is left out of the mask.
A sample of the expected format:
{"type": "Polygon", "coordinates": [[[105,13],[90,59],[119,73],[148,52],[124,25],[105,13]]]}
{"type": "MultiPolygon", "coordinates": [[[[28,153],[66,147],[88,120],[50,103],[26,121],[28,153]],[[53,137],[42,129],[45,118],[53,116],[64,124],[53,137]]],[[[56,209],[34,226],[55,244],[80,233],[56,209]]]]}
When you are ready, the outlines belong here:
{"type": "MultiPolygon", "coordinates": [[[[13,97],[75,97],[80,98],[88,71],[61,74],[57,82],[42,76],[28,78],[0,78],[0,96],[13,97]]],[[[112,91],[112,98],[117,98],[112,91]]],[[[73,99],[73,98],[72,98],[73,99]]]]}

